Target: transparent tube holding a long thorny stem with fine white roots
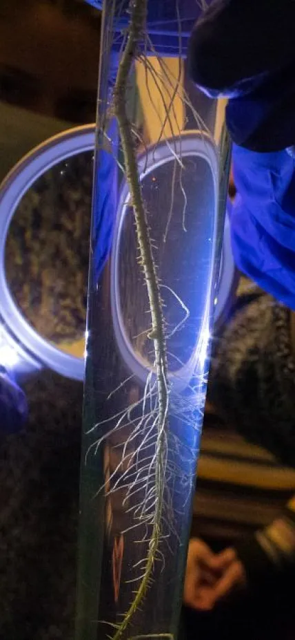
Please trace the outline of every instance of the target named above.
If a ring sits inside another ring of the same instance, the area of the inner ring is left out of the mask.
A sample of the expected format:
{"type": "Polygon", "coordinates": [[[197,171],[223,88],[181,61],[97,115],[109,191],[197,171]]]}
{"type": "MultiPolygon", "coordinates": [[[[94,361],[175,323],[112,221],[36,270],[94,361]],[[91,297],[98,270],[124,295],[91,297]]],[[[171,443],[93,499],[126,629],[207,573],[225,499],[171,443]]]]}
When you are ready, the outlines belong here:
{"type": "Polygon", "coordinates": [[[187,77],[199,12],[104,2],[77,640],[178,633],[230,162],[187,77]]]}

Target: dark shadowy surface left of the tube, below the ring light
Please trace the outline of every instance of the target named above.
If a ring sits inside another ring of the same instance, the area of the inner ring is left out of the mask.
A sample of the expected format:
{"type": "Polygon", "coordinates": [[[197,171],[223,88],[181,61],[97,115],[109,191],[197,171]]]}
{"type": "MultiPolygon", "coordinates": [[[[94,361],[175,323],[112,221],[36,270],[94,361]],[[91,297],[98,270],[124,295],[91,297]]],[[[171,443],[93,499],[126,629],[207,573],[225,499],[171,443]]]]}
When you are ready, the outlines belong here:
{"type": "Polygon", "coordinates": [[[73,639],[83,386],[26,384],[30,418],[0,440],[0,639],[73,639]]]}

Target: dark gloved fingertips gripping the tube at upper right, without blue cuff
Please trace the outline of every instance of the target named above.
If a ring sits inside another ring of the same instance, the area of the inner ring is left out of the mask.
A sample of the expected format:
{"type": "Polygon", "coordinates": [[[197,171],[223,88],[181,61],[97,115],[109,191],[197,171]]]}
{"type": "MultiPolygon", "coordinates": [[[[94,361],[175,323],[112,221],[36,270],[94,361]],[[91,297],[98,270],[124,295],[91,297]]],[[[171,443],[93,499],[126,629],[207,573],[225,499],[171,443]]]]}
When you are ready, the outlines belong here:
{"type": "Polygon", "coordinates": [[[214,0],[197,21],[190,75],[205,93],[227,96],[236,144],[277,151],[295,140],[294,0],[214,0]]]}

